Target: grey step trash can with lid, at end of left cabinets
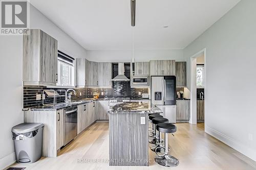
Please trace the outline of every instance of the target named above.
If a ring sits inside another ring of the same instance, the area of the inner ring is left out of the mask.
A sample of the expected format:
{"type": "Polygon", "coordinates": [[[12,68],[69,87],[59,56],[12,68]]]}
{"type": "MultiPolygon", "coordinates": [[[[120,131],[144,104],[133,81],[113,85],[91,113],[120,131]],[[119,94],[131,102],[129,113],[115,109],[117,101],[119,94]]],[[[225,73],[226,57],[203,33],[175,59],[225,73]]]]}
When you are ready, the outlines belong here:
{"type": "Polygon", "coordinates": [[[41,123],[23,123],[12,128],[18,163],[33,163],[41,158],[43,127],[41,123]]]}

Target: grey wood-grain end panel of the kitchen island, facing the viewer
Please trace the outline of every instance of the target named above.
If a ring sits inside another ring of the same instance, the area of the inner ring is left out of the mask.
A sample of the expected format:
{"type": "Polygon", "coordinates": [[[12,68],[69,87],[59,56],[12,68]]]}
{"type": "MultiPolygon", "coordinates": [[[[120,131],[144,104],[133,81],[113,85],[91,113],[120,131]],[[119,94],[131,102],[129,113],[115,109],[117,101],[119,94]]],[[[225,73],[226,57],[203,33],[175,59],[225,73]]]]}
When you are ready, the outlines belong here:
{"type": "Polygon", "coordinates": [[[110,165],[148,166],[148,114],[114,113],[109,117],[110,165]],[[140,117],[145,117],[145,124],[140,117]]]}

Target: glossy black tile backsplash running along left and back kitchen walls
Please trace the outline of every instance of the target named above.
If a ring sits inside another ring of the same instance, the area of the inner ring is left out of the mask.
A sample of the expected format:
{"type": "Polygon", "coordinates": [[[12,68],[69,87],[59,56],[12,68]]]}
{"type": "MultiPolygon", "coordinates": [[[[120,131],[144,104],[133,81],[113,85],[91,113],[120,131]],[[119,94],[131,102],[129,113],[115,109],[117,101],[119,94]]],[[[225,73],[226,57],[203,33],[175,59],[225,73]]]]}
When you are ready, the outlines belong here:
{"type": "MultiPolygon", "coordinates": [[[[36,100],[36,94],[41,94],[43,90],[59,88],[47,88],[44,86],[24,86],[23,88],[23,106],[24,108],[36,107],[42,105],[42,100],[36,100]]],[[[65,89],[67,90],[67,89],[65,89]]],[[[77,101],[85,98],[93,98],[93,93],[99,93],[99,99],[104,98],[130,98],[130,99],[142,99],[142,93],[148,93],[148,88],[131,88],[130,82],[113,82],[113,88],[75,88],[76,95],[72,93],[71,100],[77,101]],[[103,92],[103,95],[101,95],[103,92]],[[139,95],[139,92],[141,94],[139,95]]],[[[69,91],[72,92],[72,91],[69,91]]],[[[60,96],[57,97],[57,103],[65,101],[65,92],[58,91],[60,96]]],[[[45,93],[46,94],[46,93],[45,93]]],[[[53,98],[49,98],[46,94],[46,100],[44,103],[53,103],[53,98]]]]}

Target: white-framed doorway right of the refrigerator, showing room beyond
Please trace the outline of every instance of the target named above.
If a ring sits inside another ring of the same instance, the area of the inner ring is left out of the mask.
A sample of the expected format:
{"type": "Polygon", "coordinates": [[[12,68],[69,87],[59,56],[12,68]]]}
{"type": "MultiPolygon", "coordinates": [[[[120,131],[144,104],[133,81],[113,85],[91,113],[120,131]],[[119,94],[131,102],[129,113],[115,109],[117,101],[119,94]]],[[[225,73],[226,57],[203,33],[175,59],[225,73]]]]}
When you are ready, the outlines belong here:
{"type": "Polygon", "coordinates": [[[190,57],[190,124],[205,121],[206,48],[190,57]]]}

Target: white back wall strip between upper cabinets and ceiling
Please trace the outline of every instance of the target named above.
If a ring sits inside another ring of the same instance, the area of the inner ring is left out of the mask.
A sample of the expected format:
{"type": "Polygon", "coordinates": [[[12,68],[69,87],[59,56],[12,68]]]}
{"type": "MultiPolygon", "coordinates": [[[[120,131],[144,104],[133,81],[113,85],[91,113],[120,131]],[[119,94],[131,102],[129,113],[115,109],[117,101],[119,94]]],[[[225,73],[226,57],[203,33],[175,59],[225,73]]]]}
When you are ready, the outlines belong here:
{"type": "MultiPolygon", "coordinates": [[[[132,51],[87,51],[87,59],[99,62],[131,62],[132,51]]],[[[184,61],[183,50],[136,50],[135,61],[170,60],[184,61]]]]}

